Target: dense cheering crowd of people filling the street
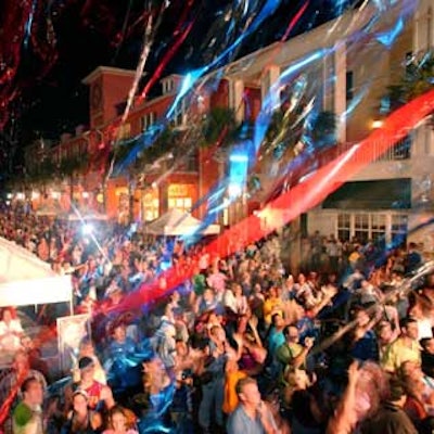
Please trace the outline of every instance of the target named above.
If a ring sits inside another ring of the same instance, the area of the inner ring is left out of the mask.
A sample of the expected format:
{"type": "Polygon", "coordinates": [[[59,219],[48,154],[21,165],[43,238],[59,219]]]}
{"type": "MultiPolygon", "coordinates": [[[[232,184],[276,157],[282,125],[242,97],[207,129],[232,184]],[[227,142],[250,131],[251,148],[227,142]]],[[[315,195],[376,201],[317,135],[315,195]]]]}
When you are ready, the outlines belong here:
{"type": "Polygon", "coordinates": [[[433,432],[434,273],[413,243],[316,232],[292,275],[276,234],[237,240],[224,258],[105,222],[81,229],[0,214],[0,237],[69,273],[75,311],[91,318],[58,378],[4,309],[0,344],[15,350],[0,374],[4,433],[433,432]],[[168,267],[186,276],[176,288],[161,278],[168,267]],[[135,303],[155,281],[158,298],[135,303]]]}

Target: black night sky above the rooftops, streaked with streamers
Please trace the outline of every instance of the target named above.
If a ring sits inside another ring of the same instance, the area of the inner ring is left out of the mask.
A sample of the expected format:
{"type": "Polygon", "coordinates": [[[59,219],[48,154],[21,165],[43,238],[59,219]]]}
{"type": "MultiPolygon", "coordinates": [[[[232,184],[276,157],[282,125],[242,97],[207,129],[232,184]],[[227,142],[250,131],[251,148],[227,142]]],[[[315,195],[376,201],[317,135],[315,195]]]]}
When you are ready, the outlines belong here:
{"type": "Polygon", "coordinates": [[[20,153],[37,138],[56,139],[79,124],[87,125],[88,94],[81,79],[99,65],[135,69],[150,15],[154,25],[148,76],[177,35],[192,24],[164,76],[210,62],[269,5],[272,13],[238,47],[231,60],[279,40],[302,8],[304,13],[291,36],[333,18],[348,7],[342,0],[3,0],[0,164],[4,166],[11,150],[20,153]]]}

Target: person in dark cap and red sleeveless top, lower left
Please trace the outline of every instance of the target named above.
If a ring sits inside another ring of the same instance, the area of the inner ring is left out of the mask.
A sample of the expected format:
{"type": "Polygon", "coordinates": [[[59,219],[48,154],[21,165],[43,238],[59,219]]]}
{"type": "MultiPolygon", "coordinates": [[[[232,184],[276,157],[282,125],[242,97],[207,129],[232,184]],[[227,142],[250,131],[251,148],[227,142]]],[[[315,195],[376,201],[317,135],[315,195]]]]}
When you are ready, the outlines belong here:
{"type": "Polygon", "coordinates": [[[112,390],[94,380],[95,363],[92,358],[85,356],[78,360],[80,380],[75,385],[76,391],[84,391],[88,395],[88,406],[91,410],[110,410],[114,405],[112,390]]]}

